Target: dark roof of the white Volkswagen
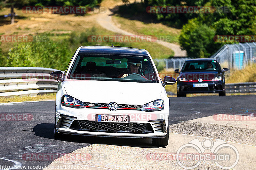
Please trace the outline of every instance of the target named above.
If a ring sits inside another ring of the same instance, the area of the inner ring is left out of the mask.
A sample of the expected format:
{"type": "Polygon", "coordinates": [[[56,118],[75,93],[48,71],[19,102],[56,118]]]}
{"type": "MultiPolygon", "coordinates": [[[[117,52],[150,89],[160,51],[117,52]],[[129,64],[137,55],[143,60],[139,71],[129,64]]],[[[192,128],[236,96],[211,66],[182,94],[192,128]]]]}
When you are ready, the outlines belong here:
{"type": "Polygon", "coordinates": [[[126,55],[136,57],[148,57],[146,50],[131,47],[116,46],[84,46],[78,54],[87,55],[126,55]]]}

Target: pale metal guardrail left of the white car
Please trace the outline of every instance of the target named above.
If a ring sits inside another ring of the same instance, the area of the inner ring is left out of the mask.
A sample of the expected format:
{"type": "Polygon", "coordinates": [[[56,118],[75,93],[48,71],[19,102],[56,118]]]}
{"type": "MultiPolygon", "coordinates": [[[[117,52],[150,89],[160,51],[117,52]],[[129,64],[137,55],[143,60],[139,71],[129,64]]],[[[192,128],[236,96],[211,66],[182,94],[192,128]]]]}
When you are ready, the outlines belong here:
{"type": "Polygon", "coordinates": [[[60,71],[43,67],[0,67],[0,97],[36,96],[56,92],[58,81],[50,73],[60,71]]]}

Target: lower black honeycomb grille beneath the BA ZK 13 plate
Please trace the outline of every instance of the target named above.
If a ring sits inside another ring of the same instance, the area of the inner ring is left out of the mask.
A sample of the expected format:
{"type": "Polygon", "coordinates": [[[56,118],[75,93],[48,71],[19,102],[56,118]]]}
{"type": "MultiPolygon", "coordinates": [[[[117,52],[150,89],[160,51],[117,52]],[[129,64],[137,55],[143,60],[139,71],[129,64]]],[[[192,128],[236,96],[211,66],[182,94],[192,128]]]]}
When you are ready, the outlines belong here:
{"type": "MultiPolygon", "coordinates": [[[[150,123],[112,123],[76,120],[79,122],[82,131],[111,132],[111,133],[145,133],[144,129],[150,123]]],[[[76,123],[74,121],[73,123],[76,123]]],[[[73,124],[72,123],[72,124],[73,124]]],[[[151,125],[150,125],[151,126],[151,125]]],[[[150,131],[152,133],[153,131],[150,131]]]]}

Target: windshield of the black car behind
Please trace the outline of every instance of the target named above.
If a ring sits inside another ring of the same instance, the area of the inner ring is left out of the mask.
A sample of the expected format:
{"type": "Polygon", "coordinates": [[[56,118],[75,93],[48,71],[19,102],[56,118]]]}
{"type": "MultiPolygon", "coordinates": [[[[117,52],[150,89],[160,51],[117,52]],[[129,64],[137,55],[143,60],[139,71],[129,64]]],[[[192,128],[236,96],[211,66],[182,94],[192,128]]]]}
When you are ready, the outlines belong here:
{"type": "Polygon", "coordinates": [[[181,72],[191,71],[220,71],[220,67],[216,60],[186,61],[182,67],[181,72]]]}

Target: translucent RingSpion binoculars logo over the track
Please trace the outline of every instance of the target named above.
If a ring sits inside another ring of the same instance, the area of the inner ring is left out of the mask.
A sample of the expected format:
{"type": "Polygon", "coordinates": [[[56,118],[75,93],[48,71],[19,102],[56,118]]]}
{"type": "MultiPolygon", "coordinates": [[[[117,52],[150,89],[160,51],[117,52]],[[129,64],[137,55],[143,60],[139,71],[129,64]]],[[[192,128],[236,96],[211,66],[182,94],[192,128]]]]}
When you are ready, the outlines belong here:
{"type": "Polygon", "coordinates": [[[198,139],[193,139],[188,144],[184,144],[178,149],[176,160],[180,167],[184,169],[194,169],[204,161],[214,162],[221,169],[231,169],[238,163],[239,152],[235,146],[221,139],[217,139],[215,142],[213,142],[211,138],[205,138],[202,142],[198,139]],[[193,150],[193,152],[191,152],[191,150],[193,150]],[[210,150],[211,153],[204,153],[205,150],[210,150]],[[180,153],[185,153],[184,156],[186,159],[194,160],[196,164],[191,166],[184,164],[184,162],[181,161],[184,159],[180,159],[179,157],[180,153]]]}

